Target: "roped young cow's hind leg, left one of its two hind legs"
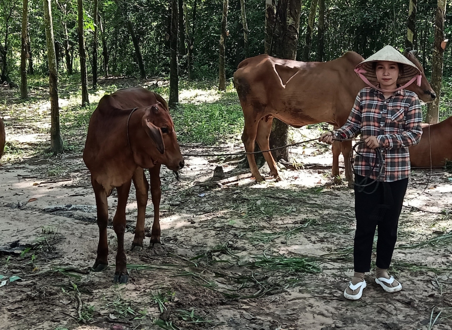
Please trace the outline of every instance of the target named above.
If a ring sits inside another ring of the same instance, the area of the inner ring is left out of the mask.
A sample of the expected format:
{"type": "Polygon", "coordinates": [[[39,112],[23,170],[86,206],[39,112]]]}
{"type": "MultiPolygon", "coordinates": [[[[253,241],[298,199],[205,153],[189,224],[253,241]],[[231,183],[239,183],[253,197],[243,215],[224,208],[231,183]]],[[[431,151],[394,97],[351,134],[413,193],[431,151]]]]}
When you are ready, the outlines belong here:
{"type": "Polygon", "coordinates": [[[137,197],[138,216],[135,226],[135,237],[132,242],[132,251],[141,251],[144,239],[144,221],[146,217],[146,205],[148,204],[149,184],[142,168],[135,170],[132,177],[137,197]]]}

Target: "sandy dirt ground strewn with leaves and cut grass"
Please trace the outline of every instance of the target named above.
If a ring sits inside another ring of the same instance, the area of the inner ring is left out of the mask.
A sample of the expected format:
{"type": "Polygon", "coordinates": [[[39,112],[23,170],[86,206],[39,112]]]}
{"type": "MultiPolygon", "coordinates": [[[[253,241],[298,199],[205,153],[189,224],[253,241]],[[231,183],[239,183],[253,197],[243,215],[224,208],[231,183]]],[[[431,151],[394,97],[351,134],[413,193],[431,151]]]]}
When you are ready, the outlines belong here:
{"type": "MultiPolygon", "coordinates": [[[[8,140],[27,143],[26,134],[36,134],[2,115],[8,140]]],[[[296,134],[302,140],[318,130],[296,134]]],[[[83,143],[83,134],[78,138],[83,143]]],[[[241,149],[237,141],[183,152],[241,149]]],[[[452,173],[413,171],[391,268],[403,290],[385,293],[372,271],[363,298],[349,301],[343,290],[353,267],[353,191],[333,184],[327,147],[311,143],[292,152],[304,168],[282,169],[282,182],[244,178],[220,186],[212,181],[216,166],[227,178],[248,171],[215,157],[186,157],[180,181],[163,169],[162,244],[127,251],[124,285],[112,283],[112,226],[110,267],[89,271],[98,229],[81,152],[2,161],[0,328],[451,329],[452,173]]],[[[108,203],[112,218],[116,192],[108,203]]],[[[128,249],[136,213],[132,191],[128,249]]],[[[152,220],[149,199],[148,235],[152,220]]]]}

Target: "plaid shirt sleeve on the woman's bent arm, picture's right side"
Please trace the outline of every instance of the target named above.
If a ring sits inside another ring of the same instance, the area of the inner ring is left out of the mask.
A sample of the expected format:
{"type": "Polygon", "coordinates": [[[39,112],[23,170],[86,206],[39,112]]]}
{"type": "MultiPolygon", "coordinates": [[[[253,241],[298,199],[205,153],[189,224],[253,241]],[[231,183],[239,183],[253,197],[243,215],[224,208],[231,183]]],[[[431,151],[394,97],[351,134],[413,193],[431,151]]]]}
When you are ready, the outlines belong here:
{"type": "Polygon", "coordinates": [[[419,143],[422,135],[422,111],[417,97],[406,112],[405,130],[400,134],[378,135],[377,141],[385,149],[397,149],[419,143]]]}

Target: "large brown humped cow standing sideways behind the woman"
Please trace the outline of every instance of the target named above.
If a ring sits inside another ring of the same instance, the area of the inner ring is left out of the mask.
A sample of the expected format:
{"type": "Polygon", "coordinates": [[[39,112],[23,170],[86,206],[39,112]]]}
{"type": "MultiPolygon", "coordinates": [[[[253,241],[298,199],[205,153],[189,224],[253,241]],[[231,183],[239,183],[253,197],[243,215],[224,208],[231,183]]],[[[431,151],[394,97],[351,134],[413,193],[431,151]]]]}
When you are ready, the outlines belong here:
{"type": "MultiPolygon", "coordinates": [[[[404,56],[413,62],[422,73],[421,85],[407,87],[424,102],[436,97],[424,75],[424,70],[415,57],[416,51],[406,49],[404,56]]],[[[327,122],[334,128],[347,121],[358,92],[367,85],[354,72],[364,58],[348,52],[333,61],[298,62],[281,60],[268,55],[248,58],[239,64],[234,73],[234,85],[239,95],[245,117],[242,140],[247,152],[254,151],[254,142],[261,150],[270,149],[269,136],[273,118],[293,127],[327,122]]],[[[332,175],[339,175],[339,155],[342,151],[346,167],[346,178],[353,187],[350,151],[352,142],[334,142],[332,145],[332,175]]],[[[264,152],[270,174],[280,180],[275,160],[270,152],[264,152]]],[[[253,154],[248,154],[251,174],[256,181],[260,175],[253,154]]]]}

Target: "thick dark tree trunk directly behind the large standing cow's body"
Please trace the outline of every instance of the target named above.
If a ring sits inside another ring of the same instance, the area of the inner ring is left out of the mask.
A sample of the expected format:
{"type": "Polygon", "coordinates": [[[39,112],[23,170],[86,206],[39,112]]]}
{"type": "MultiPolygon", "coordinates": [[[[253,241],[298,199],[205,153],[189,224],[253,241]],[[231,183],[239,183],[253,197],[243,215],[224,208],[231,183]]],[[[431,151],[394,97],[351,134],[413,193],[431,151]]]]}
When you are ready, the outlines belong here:
{"type": "MultiPolygon", "coordinates": [[[[316,0],[312,0],[316,1],[316,0]]],[[[317,4],[316,4],[317,6],[317,4]]],[[[301,2],[299,0],[280,0],[276,9],[276,28],[273,49],[278,58],[295,60],[297,56],[298,31],[300,28],[301,2]]],[[[270,133],[270,148],[288,144],[288,126],[278,119],[273,119],[270,133]]],[[[289,161],[289,149],[272,151],[276,161],[289,161]]]]}

